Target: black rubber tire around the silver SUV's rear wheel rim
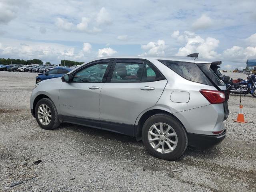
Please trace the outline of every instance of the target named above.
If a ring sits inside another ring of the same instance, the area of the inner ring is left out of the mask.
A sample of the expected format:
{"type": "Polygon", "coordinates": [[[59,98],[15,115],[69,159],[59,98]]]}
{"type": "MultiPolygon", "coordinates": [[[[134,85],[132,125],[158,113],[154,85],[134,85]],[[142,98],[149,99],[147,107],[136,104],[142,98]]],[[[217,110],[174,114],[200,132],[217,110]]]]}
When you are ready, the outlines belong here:
{"type": "Polygon", "coordinates": [[[168,114],[155,114],[148,118],[146,122],[143,125],[142,128],[142,141],[146,147],[146,149],[152,154],[153,156],[157,158],[161,158],[164,160],[176,160],[179,158],[186,150],[188,146],[188,135],[186,133],[185,128],[183,125],[176,120],[174,117],[168,115],[168,114]],[[160,153],[150,145],[150,142],[148,140],[148,131],[152,125],[155,123],[162,122],[165,124],[170,125],[174,131],[176,132],[178,143],[176,145],[176,148],[169,152],[169,153],[160,153]]]}

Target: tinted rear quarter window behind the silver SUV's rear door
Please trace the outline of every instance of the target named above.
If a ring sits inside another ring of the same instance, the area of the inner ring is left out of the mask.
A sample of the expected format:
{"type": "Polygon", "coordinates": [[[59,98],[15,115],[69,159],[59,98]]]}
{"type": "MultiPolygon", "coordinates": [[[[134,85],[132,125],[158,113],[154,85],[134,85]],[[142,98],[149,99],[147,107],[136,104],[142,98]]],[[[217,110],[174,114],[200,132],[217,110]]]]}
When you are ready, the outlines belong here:
{"type": "Polygon", "coordinates": [[[158,60],[183,78],[212,86],[212,83],[195,63],[182,61],[158,60]]]}

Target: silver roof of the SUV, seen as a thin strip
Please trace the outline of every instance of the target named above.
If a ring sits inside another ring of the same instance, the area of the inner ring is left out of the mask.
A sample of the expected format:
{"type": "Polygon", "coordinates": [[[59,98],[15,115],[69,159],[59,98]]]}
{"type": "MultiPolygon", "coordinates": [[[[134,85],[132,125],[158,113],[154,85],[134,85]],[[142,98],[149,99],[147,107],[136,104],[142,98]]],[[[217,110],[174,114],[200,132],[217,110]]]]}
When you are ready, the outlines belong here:
{"type": "MultiPolygon", "coordinates": [[[[207,60],[207,59],[198,59],[196,57],[187,57],[187,56],[108,56],[101,57],[94,60],[100,59],[114,59],[114,58],[130,58],[130,59],[146,59],[146,60],[172,60],[172,61],[183,61],[183,62],[192,62],[192,63],[212,63],[216,60],[207,60]]],[[[94,61],[92,60],[92,61],[94,61]]]]}

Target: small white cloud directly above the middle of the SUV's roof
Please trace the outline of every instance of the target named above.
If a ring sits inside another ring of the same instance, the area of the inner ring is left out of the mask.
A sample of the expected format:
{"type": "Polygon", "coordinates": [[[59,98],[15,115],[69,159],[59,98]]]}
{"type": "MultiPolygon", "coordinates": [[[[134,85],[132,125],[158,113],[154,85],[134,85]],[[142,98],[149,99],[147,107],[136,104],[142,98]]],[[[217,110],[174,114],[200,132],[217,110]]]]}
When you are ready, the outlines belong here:
{"type": "Polygon", "coordinates": [[[141,48],[147,51],[143,55],[164,55],[164,50],[167,46],[164,40],[158,40],[157,42],[149,42],[146,45],[142,45],[141,48]]]}

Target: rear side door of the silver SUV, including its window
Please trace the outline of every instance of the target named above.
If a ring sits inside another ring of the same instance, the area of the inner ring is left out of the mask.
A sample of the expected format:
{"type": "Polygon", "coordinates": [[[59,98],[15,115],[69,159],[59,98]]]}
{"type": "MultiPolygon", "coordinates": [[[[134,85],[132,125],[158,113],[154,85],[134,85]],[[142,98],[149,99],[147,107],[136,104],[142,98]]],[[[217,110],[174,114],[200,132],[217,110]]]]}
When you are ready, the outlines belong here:
{"type": "Polygon", "coordinates": [[[116,59],[100,93],[102,128],[133,136],[136,118],[156,104],[166,83],[146,60],[116,59]],[[128,73],[129,68],[134,72],[128,73]]]}

